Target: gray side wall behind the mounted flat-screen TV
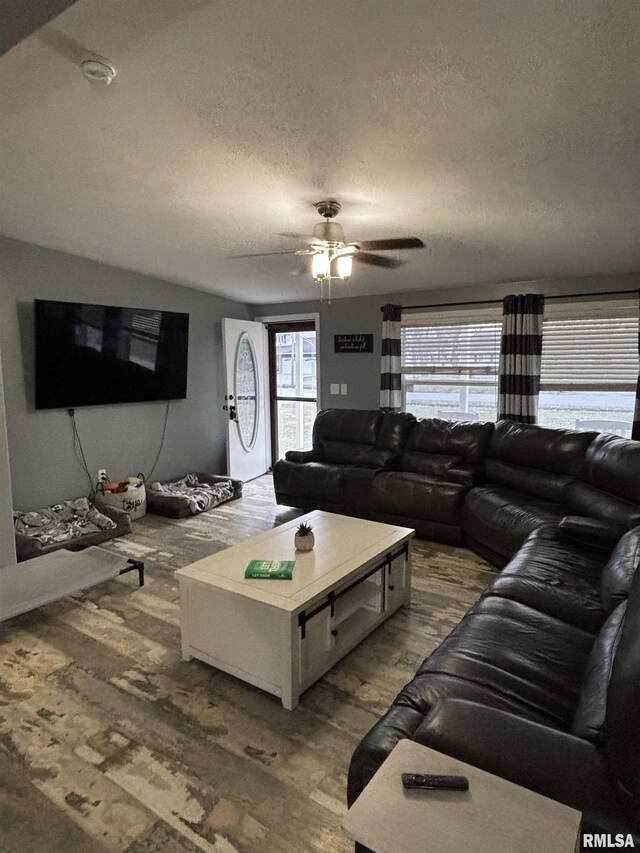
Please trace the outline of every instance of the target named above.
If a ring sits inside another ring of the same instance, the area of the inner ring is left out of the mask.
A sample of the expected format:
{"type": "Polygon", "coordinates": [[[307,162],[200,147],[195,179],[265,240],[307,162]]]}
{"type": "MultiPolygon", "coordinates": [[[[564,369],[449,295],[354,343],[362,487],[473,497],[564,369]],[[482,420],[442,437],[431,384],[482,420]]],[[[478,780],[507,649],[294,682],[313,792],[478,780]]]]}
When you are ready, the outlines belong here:
{"type": "MultiPolygon", "coordinates": [[[[14,506],[32,509],[88,494],[73,453],[65,410],[34,409],[33,300],[60,299],[190,315],[187,399],[171,403],[165,446],[154,479],[190,470],[224,471],[221,318],[250,316],[241,303],[159,279],[0,238],[0,346],[14,506]]],[[[136,403],[76,410],[92,477],[98,468],[120,479],[155,459],[165,404],[136,403]]],[[[1,472],[0,472],[1,475],[1,472]]]]}

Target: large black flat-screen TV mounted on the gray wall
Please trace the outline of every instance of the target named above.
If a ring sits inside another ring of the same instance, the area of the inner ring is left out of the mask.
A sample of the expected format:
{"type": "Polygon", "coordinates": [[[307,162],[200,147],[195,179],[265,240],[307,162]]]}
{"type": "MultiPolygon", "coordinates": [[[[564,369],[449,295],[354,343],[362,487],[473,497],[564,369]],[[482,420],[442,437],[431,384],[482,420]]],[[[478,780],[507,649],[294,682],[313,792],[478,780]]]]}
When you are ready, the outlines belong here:
{"type": "Polygon", "coordinates": [[[35,300],[36,409],[187,396],[189,315],[35,300]]]}

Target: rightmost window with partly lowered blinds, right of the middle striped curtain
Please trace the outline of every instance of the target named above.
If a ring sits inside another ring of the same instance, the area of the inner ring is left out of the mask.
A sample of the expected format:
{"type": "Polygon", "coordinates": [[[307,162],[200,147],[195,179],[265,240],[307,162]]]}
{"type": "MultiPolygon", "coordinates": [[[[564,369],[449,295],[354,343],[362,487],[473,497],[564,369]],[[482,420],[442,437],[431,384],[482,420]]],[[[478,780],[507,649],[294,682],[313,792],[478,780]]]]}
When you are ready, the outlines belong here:
{"type": "Polygon", "coordinates": [[[547,302],[539,423],[628,437],[637,379],[637,297],[547,302]]]}

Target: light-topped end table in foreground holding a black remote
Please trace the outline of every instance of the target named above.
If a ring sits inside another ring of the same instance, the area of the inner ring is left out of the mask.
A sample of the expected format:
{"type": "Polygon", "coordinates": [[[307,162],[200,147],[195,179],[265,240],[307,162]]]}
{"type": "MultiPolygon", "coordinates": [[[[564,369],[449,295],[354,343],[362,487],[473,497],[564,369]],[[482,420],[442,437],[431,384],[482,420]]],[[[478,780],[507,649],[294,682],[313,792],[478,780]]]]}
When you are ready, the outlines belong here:
{"type": "Polygon", "coordinates": [[[580,817],[562,803],[401,740],[342,825],[375,853],[573,853],[580,817]],[[403,773],[466,776],[469,790],[406,791],[403,773]]]}

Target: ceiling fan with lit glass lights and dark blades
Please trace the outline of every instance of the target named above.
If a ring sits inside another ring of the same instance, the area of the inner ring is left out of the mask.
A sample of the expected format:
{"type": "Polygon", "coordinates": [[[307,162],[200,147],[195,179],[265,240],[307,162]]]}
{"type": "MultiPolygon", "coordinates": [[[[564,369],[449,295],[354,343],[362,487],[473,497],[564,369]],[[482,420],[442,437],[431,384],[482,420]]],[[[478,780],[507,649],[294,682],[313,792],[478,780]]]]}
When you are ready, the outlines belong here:
{"type": "MultiPolygon", "coordinates": [[[[424,249],[424,243],[417,237],[391,237],[385,240],[359,240],[347,243],[342,225],[332,220],[342,210],[340,202],[329,199],[318,201],[314,207],[324,216],[325,221],[314,226],[311,236],[303,234],[286,234],[283,236],[296,237],[305,240],[308,246],[301,249],[291,249],[279,252],[252,252],[246,255],[232,255],[233,258],[260,258],[269,255],[306,255],[311,258],[311,275],[321,286],[327,282],[329,287],[333,279],[342,281],[348,279],[352,272],[352,263],[370,264],[375,267],[397,269],[406,261],[400,258],[389,258],[378,255],[393,249],[424,249]]],[[[331,291],[329,291],[331,298],[331,291]]]]}

